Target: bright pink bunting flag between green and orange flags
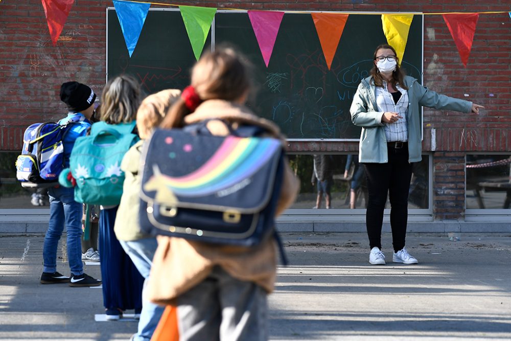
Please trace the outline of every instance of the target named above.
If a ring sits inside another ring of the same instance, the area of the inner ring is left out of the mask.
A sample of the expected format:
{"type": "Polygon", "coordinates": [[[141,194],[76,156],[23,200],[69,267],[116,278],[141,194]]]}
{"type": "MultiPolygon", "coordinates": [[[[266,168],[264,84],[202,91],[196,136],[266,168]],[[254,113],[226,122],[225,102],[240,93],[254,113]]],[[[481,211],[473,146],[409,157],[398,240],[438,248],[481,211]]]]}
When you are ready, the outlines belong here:
{"type": "Polygon", "coordinates": [[[270,62],[278,28],[281,26],[283,16],[284,12],[248,11],[248,17],[250,18],[252,29],[259,43],[259,49],[261,49],[266,67],[268,67],[270,62]]]}

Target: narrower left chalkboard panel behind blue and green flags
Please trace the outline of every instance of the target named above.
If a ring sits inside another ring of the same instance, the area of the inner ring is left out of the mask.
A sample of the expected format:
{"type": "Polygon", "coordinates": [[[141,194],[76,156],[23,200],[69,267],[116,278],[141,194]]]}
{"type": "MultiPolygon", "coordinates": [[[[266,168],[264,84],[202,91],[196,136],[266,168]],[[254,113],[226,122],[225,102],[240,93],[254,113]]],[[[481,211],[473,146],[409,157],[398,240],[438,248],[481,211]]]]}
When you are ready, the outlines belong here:
{"type": "MultiPolygon", "coordinates": [[[[190,84],[190,70],[196,60],[178,10],[149,10],[131,58],[113,8],[108,9],[107,18],[107,79],[130,74],[147,94],[190,84]]],[[[208,49],[211,31],[204,51],[208,49]]]]}

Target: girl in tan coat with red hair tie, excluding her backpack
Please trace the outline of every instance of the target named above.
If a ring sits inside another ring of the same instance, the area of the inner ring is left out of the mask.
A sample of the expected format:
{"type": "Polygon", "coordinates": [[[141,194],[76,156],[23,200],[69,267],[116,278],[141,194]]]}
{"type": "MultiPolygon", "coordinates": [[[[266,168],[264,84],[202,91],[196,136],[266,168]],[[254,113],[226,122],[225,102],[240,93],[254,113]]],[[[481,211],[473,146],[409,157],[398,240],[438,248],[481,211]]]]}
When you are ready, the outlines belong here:
{"type": "MultiPolygon", "coordinates": [[[[194,66],[191,86],[183,90],[161,127],[202,123],[219,136],[241,126],[257,127],[264,136],[284,144],[277,126],[243,105],[249,90],[242,59],[231,49],[215,49],[194,66]]],[[[184,148],[192,152],[191,146],[184,148]]],[[[283,174],[276,214],[290,206],[298,191],[287,162],[283,174]]],[[[179,340],[266,340],[267,294],[274,288],[275,276],[276,242],[271,236],[255,246],[158,236],[148,295],[153,302],[177,307],[179,340]]]]}

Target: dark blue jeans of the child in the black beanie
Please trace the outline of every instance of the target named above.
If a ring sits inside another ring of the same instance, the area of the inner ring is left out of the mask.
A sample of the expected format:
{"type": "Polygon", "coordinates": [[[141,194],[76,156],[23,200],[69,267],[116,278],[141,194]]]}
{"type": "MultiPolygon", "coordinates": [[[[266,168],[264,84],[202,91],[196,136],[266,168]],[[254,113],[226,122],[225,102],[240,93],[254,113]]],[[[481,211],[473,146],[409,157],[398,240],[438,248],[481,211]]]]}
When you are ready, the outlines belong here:
{"type": "Polygon", "coordinates": [[[50,188],[50,223],[44,236],[42,258],[44,272],[57,271],[57,247],[64,226],[67,235],[67,259],[72,275],[83,274],[82,263],[82,204],[75,201],[73,188],[50,188]]]}

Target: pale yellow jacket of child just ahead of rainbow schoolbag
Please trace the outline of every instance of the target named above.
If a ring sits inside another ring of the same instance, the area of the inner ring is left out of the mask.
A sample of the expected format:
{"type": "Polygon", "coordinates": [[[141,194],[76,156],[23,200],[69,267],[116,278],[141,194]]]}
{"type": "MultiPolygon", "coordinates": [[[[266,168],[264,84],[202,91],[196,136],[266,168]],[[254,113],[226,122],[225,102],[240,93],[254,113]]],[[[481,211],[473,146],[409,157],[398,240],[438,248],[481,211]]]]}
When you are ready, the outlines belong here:
{"type": "Polygon", "coordinates": [[[119,240],[133,241],[151,237],[140,231],[138,223],[138,208],[140,207],[138,193],[140,193],[142,177],[142,175],[138,175],[138,165],[140,165],[143,144],[144,140],[140,140],[131,146],[121,163],[121,169],[125,175],[123,196],[113,226],[113,232],[119,240]]]}

